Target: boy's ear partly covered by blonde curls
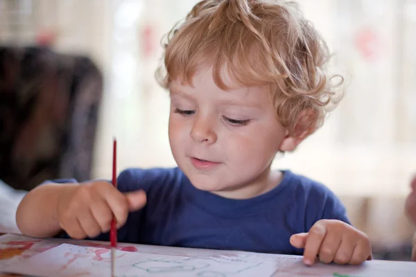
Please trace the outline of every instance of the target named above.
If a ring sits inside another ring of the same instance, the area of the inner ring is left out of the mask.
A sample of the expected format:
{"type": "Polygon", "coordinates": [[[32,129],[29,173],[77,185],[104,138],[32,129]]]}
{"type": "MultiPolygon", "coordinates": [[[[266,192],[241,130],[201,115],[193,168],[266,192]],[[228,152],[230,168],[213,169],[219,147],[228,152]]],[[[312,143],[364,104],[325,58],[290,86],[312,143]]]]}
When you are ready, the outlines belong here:
{"type": "Polygon", "coordinates": [[[280,143],[279,150],[291,152],[297,148],[304,139],[315,132],[318,113],[313,109],[304,109],[300,112],[293,132],[286,131],[286,136],[280,143]]]}

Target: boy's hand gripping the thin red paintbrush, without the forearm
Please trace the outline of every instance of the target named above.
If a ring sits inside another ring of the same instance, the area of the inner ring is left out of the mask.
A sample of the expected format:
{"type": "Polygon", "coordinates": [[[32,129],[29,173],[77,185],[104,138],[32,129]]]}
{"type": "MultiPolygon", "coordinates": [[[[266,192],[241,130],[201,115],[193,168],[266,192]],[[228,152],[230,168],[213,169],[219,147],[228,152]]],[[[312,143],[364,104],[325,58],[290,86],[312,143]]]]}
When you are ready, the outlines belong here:
{"type": "Polygon", "coordinates": [[[110,231],[113,215],[117,229],[125,224],[129,211],[146,204],[143,190],[120,193],[106,181],[73,186],[58,198],[58,222],[71,238],[94,238],[110,231]]]}

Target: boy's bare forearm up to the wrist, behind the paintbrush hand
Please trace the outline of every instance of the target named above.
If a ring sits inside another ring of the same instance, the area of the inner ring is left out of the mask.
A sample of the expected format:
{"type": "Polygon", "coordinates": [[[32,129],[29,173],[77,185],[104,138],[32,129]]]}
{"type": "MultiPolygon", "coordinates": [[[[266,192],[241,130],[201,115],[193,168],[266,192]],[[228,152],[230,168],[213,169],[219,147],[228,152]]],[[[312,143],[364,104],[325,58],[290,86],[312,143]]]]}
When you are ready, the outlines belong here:
{"type": "Polygon", "coordinates": [[[48,238],[62,230],[58,222],[60,195],[68,195],[78,184],[44,184],[31,190],[16,212],[17,227],[24,235],[48,238]]]}

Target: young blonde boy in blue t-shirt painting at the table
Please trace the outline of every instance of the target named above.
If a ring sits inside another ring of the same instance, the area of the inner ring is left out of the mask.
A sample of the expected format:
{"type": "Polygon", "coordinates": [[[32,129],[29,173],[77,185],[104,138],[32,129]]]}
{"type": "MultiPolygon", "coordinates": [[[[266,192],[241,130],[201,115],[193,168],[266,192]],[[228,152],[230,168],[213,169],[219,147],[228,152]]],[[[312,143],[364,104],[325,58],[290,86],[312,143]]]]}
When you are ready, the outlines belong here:
{"type": "Polygon", "coordinates": [[[28,193],[22,233],[140,244],[304,255],[312,265],[371,259],[325,186],[272,171],[320,127],[337,100],[327,48],[298,10],[280,1],[205,0],[174,28],[161,82],[170,91],[168,136],[178,168],[128,169],[105,181],[55,181],[28,193]],[[147,201],[147,204],[146,204],[147,201]]]}

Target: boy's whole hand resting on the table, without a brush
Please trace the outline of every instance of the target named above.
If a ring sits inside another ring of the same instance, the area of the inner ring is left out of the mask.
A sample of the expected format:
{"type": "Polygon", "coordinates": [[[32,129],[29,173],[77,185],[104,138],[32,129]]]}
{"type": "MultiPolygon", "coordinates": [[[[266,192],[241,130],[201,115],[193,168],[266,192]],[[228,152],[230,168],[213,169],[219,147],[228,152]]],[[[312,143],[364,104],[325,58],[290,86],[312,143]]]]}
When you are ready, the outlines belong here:
{"type": "Polygon", "coordinates": [[[367,235],[340,220],[319,220],[309,233],[292,235],[291,244],[304,248],[306,265],[313,265],[316,256],[323,263],[339,265],[360,265],[372,259],[367,235]]]}

